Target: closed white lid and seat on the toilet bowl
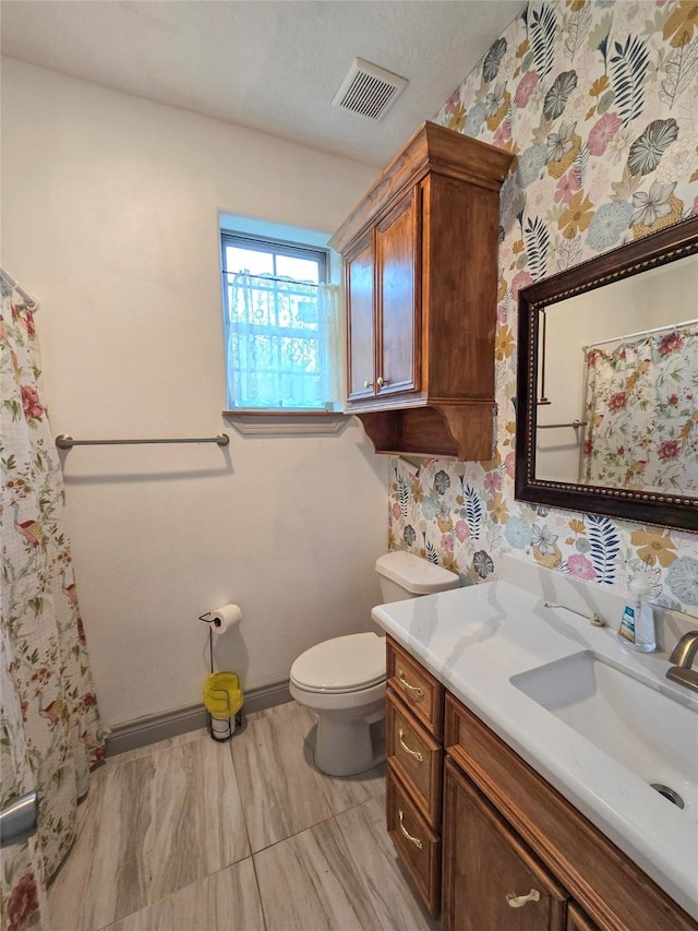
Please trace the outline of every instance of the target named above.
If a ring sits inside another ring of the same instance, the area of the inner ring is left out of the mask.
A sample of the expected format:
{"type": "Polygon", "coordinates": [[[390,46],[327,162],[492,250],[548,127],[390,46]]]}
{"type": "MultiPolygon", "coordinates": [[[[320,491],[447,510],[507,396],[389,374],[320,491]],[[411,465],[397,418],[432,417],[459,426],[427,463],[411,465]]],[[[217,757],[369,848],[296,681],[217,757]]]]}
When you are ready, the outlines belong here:
{"type": "Polygon", "coordinates": [[[291,680],[311,692],[357,692],[385,679],[385,637],[349,634],[311,646],[291,666],[291,680]]]}

